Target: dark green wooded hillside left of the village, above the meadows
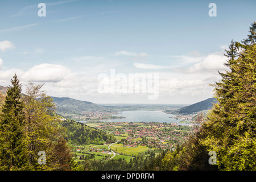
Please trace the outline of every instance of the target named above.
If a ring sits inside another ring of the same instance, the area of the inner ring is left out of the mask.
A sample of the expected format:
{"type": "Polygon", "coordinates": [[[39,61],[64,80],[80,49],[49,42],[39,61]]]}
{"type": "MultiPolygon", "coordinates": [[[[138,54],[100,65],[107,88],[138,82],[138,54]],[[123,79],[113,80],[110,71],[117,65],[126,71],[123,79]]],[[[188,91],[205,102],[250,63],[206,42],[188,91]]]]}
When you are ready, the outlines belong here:
{"type": "Polygon", "coordinates": [[[102,130],[94,129],[81,122],[66,119],[61,122],[61,126],[67,130],[68,143],[72,144],[104,144],[116,141],[113,135],[105,133],[102,130]]]}

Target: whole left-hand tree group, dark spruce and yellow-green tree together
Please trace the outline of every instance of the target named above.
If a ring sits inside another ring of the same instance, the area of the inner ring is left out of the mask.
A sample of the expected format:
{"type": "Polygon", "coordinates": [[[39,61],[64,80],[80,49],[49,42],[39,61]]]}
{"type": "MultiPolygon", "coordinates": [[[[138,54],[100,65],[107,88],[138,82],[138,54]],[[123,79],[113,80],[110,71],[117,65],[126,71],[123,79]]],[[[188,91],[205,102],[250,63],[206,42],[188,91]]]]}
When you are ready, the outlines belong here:
{"type": "Polygon", "coordinates": [[[0,170],[68,170],[72,158],[51,97],[32,82],[21,94],[16,74],[1,95],[0,170]]]}

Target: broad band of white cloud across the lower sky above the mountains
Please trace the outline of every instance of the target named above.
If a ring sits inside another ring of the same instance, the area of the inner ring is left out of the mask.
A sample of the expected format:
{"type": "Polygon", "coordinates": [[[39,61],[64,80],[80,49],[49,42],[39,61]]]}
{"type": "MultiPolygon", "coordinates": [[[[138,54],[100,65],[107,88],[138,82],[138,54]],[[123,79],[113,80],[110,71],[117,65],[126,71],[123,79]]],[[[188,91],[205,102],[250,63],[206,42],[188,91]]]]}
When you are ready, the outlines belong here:
{"type": "MultiPolygon", "coordinates": [[[[131,55],[131,57],[135,57],[133,56],[135,54],[131,52],[122,52],[121,55],[131,55]]],[[[147,56],[146,53],[136,55],[147,56]]],[[[128,67],[123,68],[123,70],[125,71],[124,74],[126,76],[129,76],[129,73],[134,72],[134,67],[140,68],[139,71],[141,71],[141,73],[159,73],[159,98],[155,103],[187,104],[212,97],[213,88],[212,86],[209,86],[209,84],[220,79],[217,69],[222,68],[225,56],[222,56],[222,53],[212,53],[202,59],[200,53],[191,52],[189,55],[185,55],[184,57],[179,56],[177,59],[184,60],[185,62],[189,61],[189,57],[199,61],[193,63],[193,61],[195,61],[193,60],[192,63],[189,64],[190,67],[188,67],[188,65],[180,67],[179,72],[171,70],[174,65],[171,65],[169,61],[164,62],[166,63],[165,65],[151,64],[153,62],[150,64],[142,64],[137,61],[137,63],[134,63],[133,65],[131,64],[129,70],[127,70],[128,67]]],[[[155,60],[160,58],[161,57],[158,56],[155,60]]],[[[167,58],[169,59],[170,57],[167,58]]],[[[123,64],[120,63],[121,61],[113,63],[113,61],[107,60],[102,63],[101,59],[102,57],[96,56],[81,56],[70,59],[73,62],[74,60],[81,62],[84,60],[84,63],[86,64],[85,67],[81,67],[81,64],[79,64],[80,68],[76,69],[76,72],[73,72],[71,70],[72,68],[58,64],[39,64],[24,71],[20,69],[10,69],[8,71],[0,70],[0,85],[3,85],[3,82],[5,85],[10,84],[10,79],[13,77],[14,73],[17,73],[18,78],[23,85],[26,85],[27,81],[44,82],[44,90],[47,90],[49,96],[71,97],[97,103],[104,103],[107,101],[114,103],[120,100],[134,103],[148,102],[148,93],[99,93],[97,90],[99,84],[99,81],[97,80],[98,73],[109,73],[110,68],[117,69],[118,73],[123,71],[118,69],[123,66],[123,64]],[[97,61],[101,61],[101,63],[94,65],[97,61]],[[118,63],[120,65],[118,65],[118,63]]],[[[105,57],[103,57],[103,59],[105,60],[105,57]]],[[[150,57],[150,59],[152,59],[152,57],[150,57]]],[[[159,63],[159,61],[154,63],[159,63]]],[[[175,66],[177,65],[175,64],[175,66]]]]}

